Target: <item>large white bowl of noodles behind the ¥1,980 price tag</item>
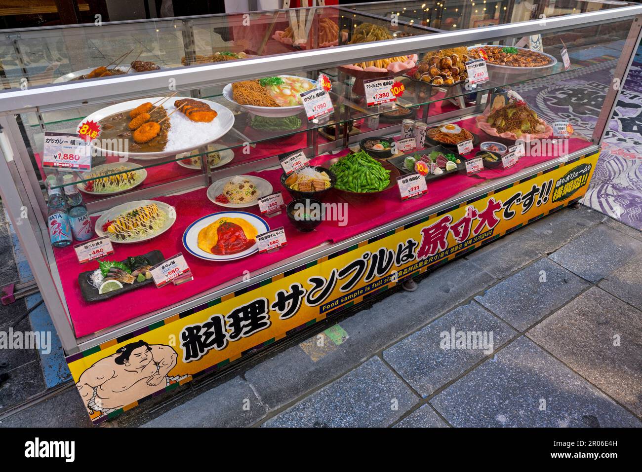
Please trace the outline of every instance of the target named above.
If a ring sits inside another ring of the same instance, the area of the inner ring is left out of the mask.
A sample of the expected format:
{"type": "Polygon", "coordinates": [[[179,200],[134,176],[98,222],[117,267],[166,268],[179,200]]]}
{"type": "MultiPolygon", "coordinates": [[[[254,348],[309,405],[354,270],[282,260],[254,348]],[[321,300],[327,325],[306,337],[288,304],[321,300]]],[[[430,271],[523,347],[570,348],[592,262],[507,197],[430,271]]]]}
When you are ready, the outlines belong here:
{"type": "Polygon", "coordinates": [[[304,110],[299,94],[317,88],[317,81],[298,76],[273,76],[225,85],[223,97],[248,112],[284,118],[304,110]]]}

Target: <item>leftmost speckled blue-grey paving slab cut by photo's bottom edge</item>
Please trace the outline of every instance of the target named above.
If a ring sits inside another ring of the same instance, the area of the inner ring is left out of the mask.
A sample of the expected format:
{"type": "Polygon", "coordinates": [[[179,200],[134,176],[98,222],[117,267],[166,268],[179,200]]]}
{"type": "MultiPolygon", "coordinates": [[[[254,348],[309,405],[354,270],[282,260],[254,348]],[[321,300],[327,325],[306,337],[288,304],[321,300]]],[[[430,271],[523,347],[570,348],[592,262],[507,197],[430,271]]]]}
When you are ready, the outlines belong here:
{"type": "Polygon", "coordinates": [[[380,358],[361,366],[268,419],[264,426],[381,427],[392,425],[419,398],[380,358]]]}

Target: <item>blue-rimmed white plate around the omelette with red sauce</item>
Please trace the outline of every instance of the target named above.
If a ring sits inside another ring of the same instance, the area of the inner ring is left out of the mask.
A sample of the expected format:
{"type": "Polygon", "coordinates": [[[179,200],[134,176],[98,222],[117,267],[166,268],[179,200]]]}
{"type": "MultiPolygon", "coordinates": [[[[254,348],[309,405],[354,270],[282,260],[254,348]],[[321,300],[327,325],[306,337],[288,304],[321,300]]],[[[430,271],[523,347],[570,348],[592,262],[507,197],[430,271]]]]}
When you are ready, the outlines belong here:
{"type": "Polygon", "coordinates": [[[216,221],[217,219],[225,218],[225,217],[243,218],[245,221],[252,224],[254,228],[256,228],[257,234],[266,233],[270,231],[270,226],[268,226],[268,223],[265,221],[265,219],[257,215],[253,215],[251,213],[247,213],[247,212],[213,213],[211,215],[207,215],[202,218],[199,218],[194,223],[187,226],[187,229],[183,233],[183,246],[185,246],[185,249],[187,249],[187,252],[189,252],[193,256],[196,256],[201,259],[206,259],[206,260],[236,260],[236,259],[242,259],[244,257],[248,257],[250,254],[256,253],[259,250],[259,246],[257,246],[256,243],[251,248],[245,249],[245,251],[241,251],[236,254],[229,254],[226,256],[217,256],[215,254],[210,254],[198,247],[198,233],[200,233],[200,230],[205,228],[205,226],[208,226],[209,224],[214,223],[214,221],[216,221]]]}

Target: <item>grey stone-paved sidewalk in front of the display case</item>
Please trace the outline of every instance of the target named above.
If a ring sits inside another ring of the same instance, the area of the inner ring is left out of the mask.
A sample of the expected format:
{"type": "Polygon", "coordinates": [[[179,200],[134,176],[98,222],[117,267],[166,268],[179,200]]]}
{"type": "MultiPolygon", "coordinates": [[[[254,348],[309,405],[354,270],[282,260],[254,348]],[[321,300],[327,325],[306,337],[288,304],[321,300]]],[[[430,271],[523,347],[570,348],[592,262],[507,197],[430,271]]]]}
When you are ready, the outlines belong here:
{"type": "MultiPolygon", "coordinates": [[[[566,208],[108,426],[641,426],[641,266],[642,233],[566,208]]],[[[1,426],[88,424],[72,385],[1,426]]]]}

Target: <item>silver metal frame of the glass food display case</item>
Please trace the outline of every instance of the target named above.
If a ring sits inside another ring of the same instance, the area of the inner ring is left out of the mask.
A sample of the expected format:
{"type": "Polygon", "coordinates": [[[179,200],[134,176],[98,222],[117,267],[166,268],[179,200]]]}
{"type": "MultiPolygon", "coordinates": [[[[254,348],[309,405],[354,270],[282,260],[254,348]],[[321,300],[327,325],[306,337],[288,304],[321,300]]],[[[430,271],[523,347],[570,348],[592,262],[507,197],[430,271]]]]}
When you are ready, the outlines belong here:
{"type": "MultiPolygon", "coordinates": [[[[325,7],[333,8],[333,7],[325,7]]],[[[220,15],[213,15],[220,16],[220,15]]],[[[150,313],[136,319],[112,326],[103,332],[89,335],[82,339],[76,339],[69,314],[64,302],[64,293],[60,286],[58,267],[53,257],[53,248],[49,243],[48,230],[43,215],[46,215],[46,202],[42,194],[40,183],[33,169],[28,149],[22,138],[21,130],[15,118],[15,114],[26,112],[47,112],[53,110],[65,110],[77,106],[96,105],[109,101],[131,99],[139,96],[151,96],[154,93],[163,93],[167,90],[167,83],[173,78],[180,84],[181,90],[197,90],[202,87],[214,85],[225,85],[230,77],[235,80],[249,80],[261,78],[274,74],[283,74],[289,71],[311,71],[327,67],[334,67],[345,63],[358,62],[362,58],[386,58],[395,56],[399,51],[406,53],[422,53],[431,49],[439,49],[447,46],[465,46],[501,40],[509,37],[521,37],[530,33],[553,33],[557,31],[572,30],[574,28],[593,26],[603,22],[622,21],[631,19],[628,40],[618,61],[615,77],[623,83],[629,71],[630,63],[634,56],[634,48],[638,46],[642,32],[642,5],[631,5],[622,8],[598,10],[595,12],[582,13],[564,17],[553,17],[547,19],[544,24],[540,21],[526,21],[515,24],[500,24],[477,30],[431,32],[426,31],[425,35],[396,38],[394,40],[383,40],[374,43],[358,45],[347,45],[340,47],[329,47],[325,49],[313,49],[279,55],[263,56],[242,61],[221,62],[209,65],[193,65],[180,69],[161,70],[132,76],[118,76],[117,78],[103,78],[101,80],[89,80],[53,85],[33,87],[28,90],[4,90],[0,92],[0,150],[3,158],[0,160],[0,185],[3,194],[3,205],[13,221],[13,227],[17,233],[22,248],[26,253],[28,262],[37,281],[42,298],[51,314],[62,346],[67,355],[86,350],[110,339],[115,339],[126,333],[148,326],[155,321],[177,314],[191,307],[202,305],[204,301],[221,297],[225,294],[238,291],[247,287],[254,280],[268,278],[272,274],[287,271],[291,267],[300,266],[307,261],[317,259],[323,255],[336,252],[343,248],[349,248],[357,242],[367,240],[377,235],[382,235],[394,228],[399,228],[405,223],[416,220],[424,215],[434,214],[443,208],[452,207],[475,196],[488,193],[490,190],[498,189],[512,181],[520,180],[546,169],[551,169],[560,162],[573,160],[580,155],[586,155],[599,149],[602,137],[612,110],[617,103],[620,94],[620,87],[612,84],[605,99],[602,112],[598,117],[598,124],[593,133],[593,144],[589,148],[582,149],[577,153],[563,158],[552,159],[548,162],[535,165],[506,178],[490,181],[472,191],[464,192],[458,196],[447,199],[442,203],[424,208],[419,212],[406,215],[397,221],[386,224],[380,228],[363,233],[358,237],[352,237],[337,244],[312,248],[296,258],[291,258],[266,267],[260,273],[252,277],[251,281],[244,281],[241,278],[231,280],[218,287],[187,299],[173,307],[150,313]]],[[[171,19],[170,19],[171,20],[171,19]]],[[[119,24],[130,24],[132,22],[119,22],[119,24]]],[[[446,121],[453,117],[463,117],[480,110],[480,106],[456,110],[450,114],[430,117],[429,121],[446,121]]],[[[427,118],[428,119],[428,118],[427,118]]],[[[399,125],[390,126],[385,131],[377,130],[370,133],[361,133],[358,139],[382,132],[390,134],[399,129],[399,125]]],[[[355,138],[356,139],[356,138],[355,138]]],[[[350,144],[355,139],[345,135],[345,143],[331,142],[322,146],[315,146],[309,151],[320,153],[341,147],[342,144],[350,144]]],[[[245,164],[250,166],[252,164],[245,164]]],[[[277,165],[277,158],[267,159],[262,162],[263,168],[270,165],[277,165]]],[[[234,173],[238,173],[243,167],[234,167],[234,173]]],[[[232,171],[230,171],[231,173],[232,171]]],[[[225,176],[225,171],[218,174],[225,176]]],[[[128,197],[113,197],[101,200],[101,207],[111,207],[122,203],[123,199],[130,199],[132,195],[153,198],[159,194],[170,194],[182,190],[194,189],[204,185],[204,176],[197,175],[184,180],[173,181],[168,184],[137,190],[128,194],[128,197]]]]}

